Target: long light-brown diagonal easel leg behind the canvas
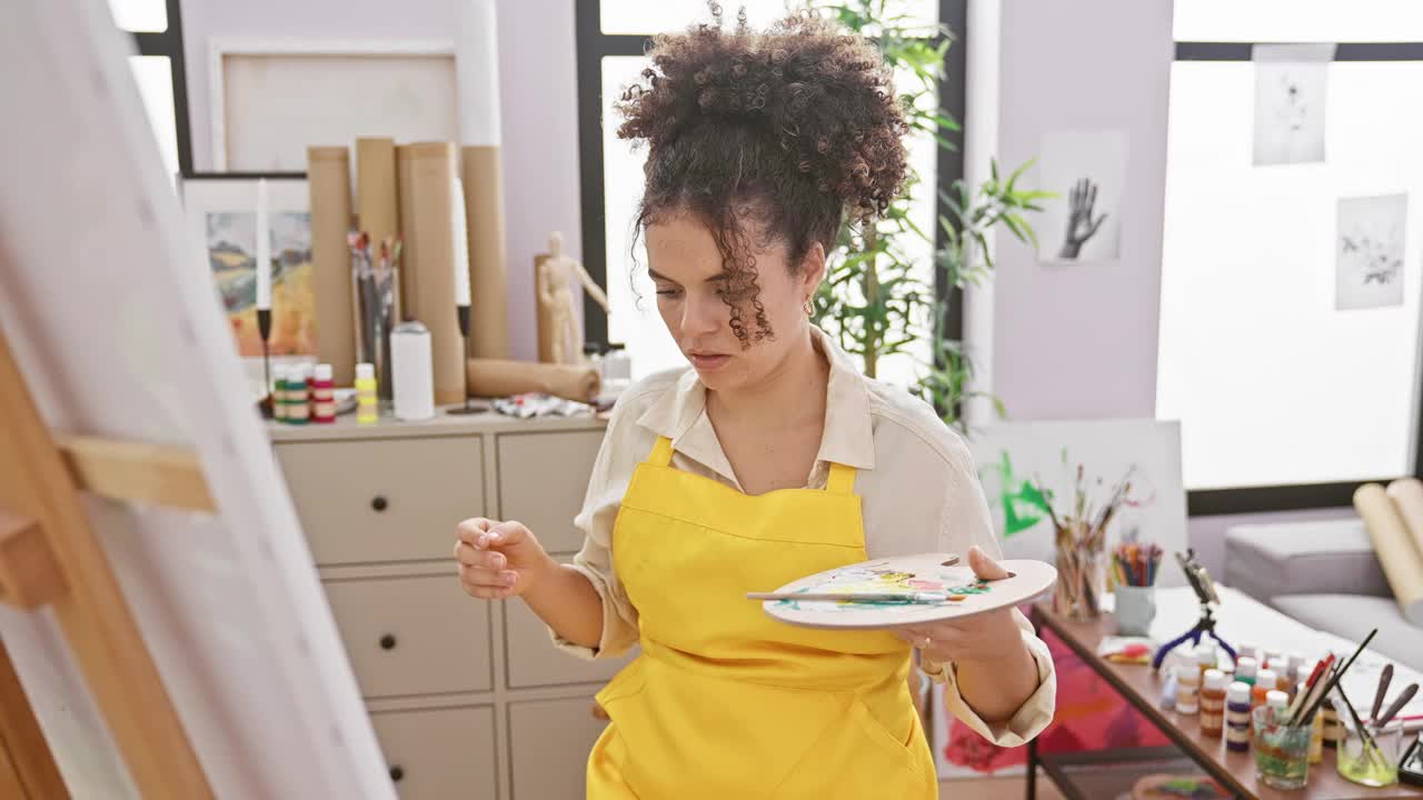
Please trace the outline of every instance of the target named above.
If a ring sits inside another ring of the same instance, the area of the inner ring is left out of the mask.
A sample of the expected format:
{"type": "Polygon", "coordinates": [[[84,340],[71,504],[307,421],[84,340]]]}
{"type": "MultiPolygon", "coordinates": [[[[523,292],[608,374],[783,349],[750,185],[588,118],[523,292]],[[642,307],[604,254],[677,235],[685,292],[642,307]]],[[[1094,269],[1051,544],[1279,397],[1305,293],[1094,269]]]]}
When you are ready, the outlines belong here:
{"type": "Polygon", "coordinates": [[[0,330],[0,508],[26,527],[38,525],[44,534],[63,584],[63,594],[50,606],[139,794],[145,800],[211,799],[202,764],[118,578],[90,528],[74,475],[30,397],[4,330],[0,330]]]}

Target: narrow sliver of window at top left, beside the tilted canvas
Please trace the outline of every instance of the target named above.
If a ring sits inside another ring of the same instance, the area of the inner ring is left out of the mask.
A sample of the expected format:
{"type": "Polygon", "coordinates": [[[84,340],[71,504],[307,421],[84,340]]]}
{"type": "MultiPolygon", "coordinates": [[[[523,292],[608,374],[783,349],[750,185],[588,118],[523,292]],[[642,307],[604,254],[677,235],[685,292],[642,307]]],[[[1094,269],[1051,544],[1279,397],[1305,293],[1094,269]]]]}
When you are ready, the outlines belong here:
{"type": "Polygon", "coordinates": [[[108,0],[114,24],[134,34],[128,58],[154,141],[171,179],[192,174],[179,0],[108,0]]]}

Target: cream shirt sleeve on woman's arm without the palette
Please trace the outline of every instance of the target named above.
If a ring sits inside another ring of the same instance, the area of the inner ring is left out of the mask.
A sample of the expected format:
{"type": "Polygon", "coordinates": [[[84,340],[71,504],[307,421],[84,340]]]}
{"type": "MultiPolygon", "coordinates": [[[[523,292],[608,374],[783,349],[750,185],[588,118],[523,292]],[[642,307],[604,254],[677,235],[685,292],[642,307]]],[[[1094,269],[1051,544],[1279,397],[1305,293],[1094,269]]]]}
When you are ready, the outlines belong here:
{"type": "Polygon", "coordinates": [[[613,569],[612,537],[618,508],[632,480],[632,470],[645,456],[636,448],[650,447],[647,443],[652,438],[636,424],[636,414],[628,413],[626,406],[619,403],[608,421],[608,431],[593,461],[583,508],[573,518],[573,525],[583,532],[583,548],[573,557],[572,567],[588,577],[602,599],[603,633],[596,648],[586,648],[559,636],[549,628],[554,646],[565,653],[589,660],[612,658],[628,652],[638,642],[638,609],[628,599],[628,592],[623,591],[613,569]]]}

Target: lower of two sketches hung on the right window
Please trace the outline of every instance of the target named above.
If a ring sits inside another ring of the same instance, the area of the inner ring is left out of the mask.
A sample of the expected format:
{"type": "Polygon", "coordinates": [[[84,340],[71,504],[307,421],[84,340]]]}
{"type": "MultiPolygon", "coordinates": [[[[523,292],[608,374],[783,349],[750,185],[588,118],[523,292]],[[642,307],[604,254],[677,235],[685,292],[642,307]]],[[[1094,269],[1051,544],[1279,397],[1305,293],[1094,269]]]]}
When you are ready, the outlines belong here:
{"type": "Polygon", "coordinates": [[[1407,195],[1339,199],[1335,309],[1403,305],[1407,216],[1407,195]]]}

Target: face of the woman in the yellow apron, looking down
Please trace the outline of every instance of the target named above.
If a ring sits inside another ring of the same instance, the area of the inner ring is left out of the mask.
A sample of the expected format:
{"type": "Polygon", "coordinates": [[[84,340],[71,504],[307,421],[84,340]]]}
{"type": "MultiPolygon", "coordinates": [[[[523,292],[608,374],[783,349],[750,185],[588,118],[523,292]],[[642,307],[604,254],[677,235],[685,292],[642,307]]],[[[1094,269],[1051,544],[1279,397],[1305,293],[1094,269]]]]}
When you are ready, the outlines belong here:
{"type": "MultiPolygon", "coordinates": [[[[808,319],[803,305],[825,272],[824,249],[811,245],[794,275],[784,243],[754,255],[757,299],[776,337],[744,347],[731,330],[731,307],[719,292],[726,275],[707,226],[690,214],[666,215],[647,225],[647,272],[657,288],[657,310],[707,389],[756,386],[785,362],[793,347],[804,346],[808,319]]],[[[756,310],[750,303],[741,319],[747,333],[754,335],[756,310]]]]}

